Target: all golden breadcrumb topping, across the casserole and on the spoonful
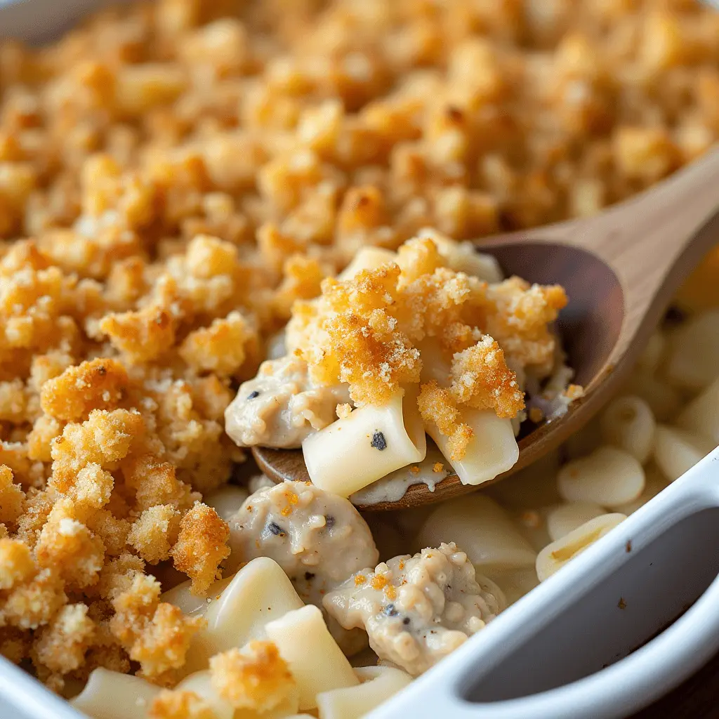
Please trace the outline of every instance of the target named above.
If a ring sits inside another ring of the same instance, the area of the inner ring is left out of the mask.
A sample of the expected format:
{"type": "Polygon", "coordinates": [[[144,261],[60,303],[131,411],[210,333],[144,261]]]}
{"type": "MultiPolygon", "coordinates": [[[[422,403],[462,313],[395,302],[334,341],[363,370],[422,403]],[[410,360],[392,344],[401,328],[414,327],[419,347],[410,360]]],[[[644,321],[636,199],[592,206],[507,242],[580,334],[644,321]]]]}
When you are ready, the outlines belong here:
{"type": "Polygon", "coordinates": [[[719,16],[524,11],[157,0],[0,42],[0,653],[58,691],[128,652],[169,680],[196,628],[147,571],[216,576],[196,502],[244,461],[224,410],[290,314],[358,403],[422,379],[454,452],[465,402],[510,416],[510,372],[550,372],[562,289],[482,283],[444,243],[593,214],[712,147],[719,16]],[[369,246],[396,265],[326,279],[369,246]]]}

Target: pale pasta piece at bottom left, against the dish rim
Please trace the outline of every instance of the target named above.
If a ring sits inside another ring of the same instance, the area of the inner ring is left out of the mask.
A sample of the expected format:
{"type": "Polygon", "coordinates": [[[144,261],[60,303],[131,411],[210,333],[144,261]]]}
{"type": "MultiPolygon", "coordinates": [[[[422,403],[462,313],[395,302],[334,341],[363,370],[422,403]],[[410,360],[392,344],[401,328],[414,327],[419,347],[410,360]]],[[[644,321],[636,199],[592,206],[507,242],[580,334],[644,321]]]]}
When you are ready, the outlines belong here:
{"type": "Polygon", "coordinates": [[[93,719],[145,719],[160,690],[140,677],[99,667],[70,704],[93,719]]]}

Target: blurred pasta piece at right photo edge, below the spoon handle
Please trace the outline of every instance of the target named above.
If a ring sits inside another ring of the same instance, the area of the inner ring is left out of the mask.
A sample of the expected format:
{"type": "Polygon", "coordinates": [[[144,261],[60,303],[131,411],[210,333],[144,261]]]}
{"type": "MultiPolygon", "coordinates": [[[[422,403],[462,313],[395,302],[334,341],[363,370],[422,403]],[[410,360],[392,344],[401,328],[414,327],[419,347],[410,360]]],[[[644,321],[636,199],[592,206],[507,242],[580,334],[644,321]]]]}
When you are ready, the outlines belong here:
{"type": "Polygon", "coordinates": [[[719,309],[702,312],[679,326],[670,339],[667,379],[680,388],[700,390],[719,368],[719,309]]]}

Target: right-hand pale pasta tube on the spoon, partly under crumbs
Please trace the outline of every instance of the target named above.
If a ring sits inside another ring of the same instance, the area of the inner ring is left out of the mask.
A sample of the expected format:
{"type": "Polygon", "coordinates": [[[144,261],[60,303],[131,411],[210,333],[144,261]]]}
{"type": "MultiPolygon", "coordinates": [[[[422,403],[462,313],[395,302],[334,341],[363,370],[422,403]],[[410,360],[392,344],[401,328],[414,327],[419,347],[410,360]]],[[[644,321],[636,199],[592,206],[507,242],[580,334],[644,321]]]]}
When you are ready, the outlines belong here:
{"type": "Polygon", "coordinates": [[[441,434],[434,422],[425,423],[425,429],[463,485],[481,485],[514,467],[519,446],[510,419],[500,418],[490,409],[463,407],[459,413],[461,421],[472,429],[472,439],[462,459],[450,458],[449,437],[441,434]]]}

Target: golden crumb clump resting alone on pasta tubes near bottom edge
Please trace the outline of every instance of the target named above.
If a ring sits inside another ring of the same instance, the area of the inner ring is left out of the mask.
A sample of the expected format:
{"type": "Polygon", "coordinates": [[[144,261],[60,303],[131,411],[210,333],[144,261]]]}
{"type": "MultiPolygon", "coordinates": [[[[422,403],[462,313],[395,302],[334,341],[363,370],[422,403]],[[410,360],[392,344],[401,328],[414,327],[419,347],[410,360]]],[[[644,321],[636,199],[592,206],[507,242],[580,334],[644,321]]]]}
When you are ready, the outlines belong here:
{"type": "Polygon", "coordinates": [[[210,659],[212,686],[235,709],[257,713],[280,705],[296,684],[277,646],[271,641],[251,641],[242,649],[230,649],[210,659]]]}

